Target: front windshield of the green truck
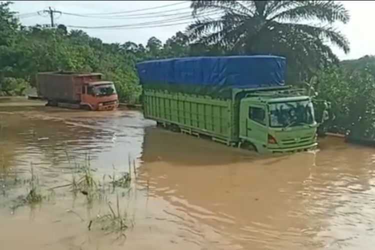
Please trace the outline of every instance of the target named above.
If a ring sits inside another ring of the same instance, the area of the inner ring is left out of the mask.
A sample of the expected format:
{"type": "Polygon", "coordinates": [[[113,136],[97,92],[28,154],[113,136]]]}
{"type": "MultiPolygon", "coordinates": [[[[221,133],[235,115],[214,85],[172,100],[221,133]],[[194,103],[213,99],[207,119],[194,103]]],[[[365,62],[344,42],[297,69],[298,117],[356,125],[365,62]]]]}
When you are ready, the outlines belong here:
{"type": "Polygon", "coordinates": [[[269,103],[271,127],[291,127],[314,123],[314,110],[309,100],[269,103]]]}

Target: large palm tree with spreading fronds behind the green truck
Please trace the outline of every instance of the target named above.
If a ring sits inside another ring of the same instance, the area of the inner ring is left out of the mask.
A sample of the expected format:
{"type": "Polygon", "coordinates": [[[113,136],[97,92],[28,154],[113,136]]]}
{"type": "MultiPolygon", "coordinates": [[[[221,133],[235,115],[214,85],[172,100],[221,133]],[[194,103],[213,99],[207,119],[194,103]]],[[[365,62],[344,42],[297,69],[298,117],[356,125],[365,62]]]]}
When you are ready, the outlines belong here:
{"type": "Polygon", "coordinates": [[[345,36],[333,28],[336,21],[346,23],[349,13],[335,1],[195,0],[191,8],[197,20],[188,27],[190,39],[219,44],[228,53],[283,55],[293,80],[338,61],[329,43],[349,51],[345,36]],[[198,17],[207,14],[219,17],[198,17]]]}

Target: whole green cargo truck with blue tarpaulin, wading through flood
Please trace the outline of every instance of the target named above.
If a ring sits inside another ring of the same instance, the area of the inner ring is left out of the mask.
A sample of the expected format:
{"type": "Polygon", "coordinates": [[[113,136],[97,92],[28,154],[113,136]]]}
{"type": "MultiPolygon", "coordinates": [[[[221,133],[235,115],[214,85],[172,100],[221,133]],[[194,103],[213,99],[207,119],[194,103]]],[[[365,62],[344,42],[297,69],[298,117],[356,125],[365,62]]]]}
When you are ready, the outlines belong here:
{"type": "Polygon", "coordinates": [[[144,117],[160,126],[258,152],[317,145],[311,97],[285,86],[283,57],[182,57],[136,67],[144,117]]]}

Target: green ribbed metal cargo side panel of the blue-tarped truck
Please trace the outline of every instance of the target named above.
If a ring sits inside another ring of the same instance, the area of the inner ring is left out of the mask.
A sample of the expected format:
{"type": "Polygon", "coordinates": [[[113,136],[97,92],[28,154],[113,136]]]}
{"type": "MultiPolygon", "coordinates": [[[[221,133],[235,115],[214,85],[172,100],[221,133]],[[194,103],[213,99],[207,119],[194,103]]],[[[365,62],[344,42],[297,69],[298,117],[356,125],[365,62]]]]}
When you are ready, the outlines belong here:
{"type": "Polygon", "coordinates": [[[230,99],[145,89],[143,112],[145,118],[175,124],[185,132],[210,135],[227,144],[235,140],[230,99]]]}

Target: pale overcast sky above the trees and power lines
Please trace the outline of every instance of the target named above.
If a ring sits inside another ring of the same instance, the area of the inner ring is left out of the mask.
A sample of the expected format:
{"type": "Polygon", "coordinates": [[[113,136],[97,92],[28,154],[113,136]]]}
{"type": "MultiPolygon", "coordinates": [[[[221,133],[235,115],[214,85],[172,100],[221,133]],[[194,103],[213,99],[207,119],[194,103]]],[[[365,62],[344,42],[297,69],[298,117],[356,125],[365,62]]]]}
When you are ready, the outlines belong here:
{"type": "MultiPolygon", "coordinates": [[[[339,24],[337,28],[348,38],[351,51],[349,54],[344,54],[338,49],[333,48],[334,52],[340,59],[351,59],[366,54],[375,54],[375,35],[372,28],[373,23],[375,23],[375,14],[373,13],[375,1],[342,2],[349,10],[351,18],[349,23],[339,24]]],[[[123,43],[131,40],[136,43],[145,43],[150,36],[156,36],[160,40],[165,41],[176,31],[184,30],[187,25],[185,22],[191,21],[191,19],[186,17],[190,11],[188,9],[189,2],[187,1],[14,1],[11,9],[19,12],[22,24],[34,25],[36,23],[49,23],[49,17],[46,13],[39,12],[41,15],[36,13],[36,11],[43,10],[48,6],[66,13],[83,15],[100,13],[100,15],[95,17],[92,17],[92,15],[87,17],[73,16],[65,13],[60,15],[56,13],[55,22],[57,24],[74,26],[137,24],[137,26],[127,26],[127,29],[123,29],[123,27],[122,29],[82,28],[89,35],[99,37],[104,42],[123,43]],[[174,5],[158,7],[168,4],[174,5]],[[152,9],[134,11],[144,8],[152,9]],[[112,14],[106,14],[108,12],[112,14]],[[172,23],[182,24],[170,25],[172,23]],[[157,27],[139,28],[139,25],[143,27],[157,27]],[[129,27],[132,28],[129,29],[129,27]]]]}

